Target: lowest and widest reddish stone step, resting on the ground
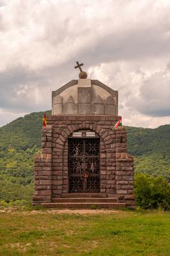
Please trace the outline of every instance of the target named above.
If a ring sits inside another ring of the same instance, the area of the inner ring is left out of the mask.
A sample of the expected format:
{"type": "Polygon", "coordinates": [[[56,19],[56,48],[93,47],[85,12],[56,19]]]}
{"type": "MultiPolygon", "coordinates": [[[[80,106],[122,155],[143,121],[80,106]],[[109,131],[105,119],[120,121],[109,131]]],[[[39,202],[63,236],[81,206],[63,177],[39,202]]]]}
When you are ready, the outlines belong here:
{"type": "Polygon", "coordinates": [[[118,208],[126,207],[125,203],[42,203],[42,207],[62,208],[62,209],[99,209],[99,208],[118,208]]]}

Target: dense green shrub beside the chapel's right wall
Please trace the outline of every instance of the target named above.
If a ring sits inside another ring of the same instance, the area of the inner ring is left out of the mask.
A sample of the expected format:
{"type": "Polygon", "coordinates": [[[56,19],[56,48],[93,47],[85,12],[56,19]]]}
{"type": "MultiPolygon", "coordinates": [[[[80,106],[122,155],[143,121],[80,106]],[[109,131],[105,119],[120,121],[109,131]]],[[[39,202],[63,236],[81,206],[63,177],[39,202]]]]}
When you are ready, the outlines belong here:
{"type": "Polygon", "coordinates": [[[170,184],[163,177],[137,174],[134,188],[137,206],[142,209],[169,209],[170,184]]]}

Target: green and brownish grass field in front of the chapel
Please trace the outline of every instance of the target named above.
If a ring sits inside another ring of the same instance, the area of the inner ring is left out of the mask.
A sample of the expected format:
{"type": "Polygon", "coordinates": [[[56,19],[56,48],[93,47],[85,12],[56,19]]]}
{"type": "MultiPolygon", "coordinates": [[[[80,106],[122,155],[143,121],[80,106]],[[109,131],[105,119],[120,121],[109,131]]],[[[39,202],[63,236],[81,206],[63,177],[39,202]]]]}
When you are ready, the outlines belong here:
{"type": "Polygon", "coordinates": [[[170,212],[1,211],[0,255],[169,256],[170,212]]]}

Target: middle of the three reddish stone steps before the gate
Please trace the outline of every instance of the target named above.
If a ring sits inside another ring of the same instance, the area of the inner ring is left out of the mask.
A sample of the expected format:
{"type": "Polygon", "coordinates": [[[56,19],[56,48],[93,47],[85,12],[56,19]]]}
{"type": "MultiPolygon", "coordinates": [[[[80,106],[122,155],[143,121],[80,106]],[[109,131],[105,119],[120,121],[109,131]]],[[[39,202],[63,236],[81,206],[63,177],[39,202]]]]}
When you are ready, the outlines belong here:
{"type": "Polygon", "coordinates": [[[53,198],[52,203],[116,203],[117,199],[114,197],[101,197],[101,198],[53,198]]]}

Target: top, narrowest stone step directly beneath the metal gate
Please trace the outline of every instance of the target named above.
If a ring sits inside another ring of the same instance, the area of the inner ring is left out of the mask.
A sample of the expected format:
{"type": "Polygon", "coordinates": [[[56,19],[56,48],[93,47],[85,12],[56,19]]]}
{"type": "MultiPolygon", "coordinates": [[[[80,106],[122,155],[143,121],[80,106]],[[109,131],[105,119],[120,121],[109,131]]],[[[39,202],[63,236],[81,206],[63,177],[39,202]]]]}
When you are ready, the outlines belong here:
{"type": "MultiPolygon", "coordinates": [[[[53,195],[52,197],[55,198],[55,195],[53,195]]],[[[105,193],[65,193],[65,194],[62,194],[61,197],[62,198],[87,198],[87,197],[88,198],[98,198],[98,197],[106,198],[107,195],[105,193]]]]}

